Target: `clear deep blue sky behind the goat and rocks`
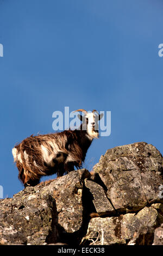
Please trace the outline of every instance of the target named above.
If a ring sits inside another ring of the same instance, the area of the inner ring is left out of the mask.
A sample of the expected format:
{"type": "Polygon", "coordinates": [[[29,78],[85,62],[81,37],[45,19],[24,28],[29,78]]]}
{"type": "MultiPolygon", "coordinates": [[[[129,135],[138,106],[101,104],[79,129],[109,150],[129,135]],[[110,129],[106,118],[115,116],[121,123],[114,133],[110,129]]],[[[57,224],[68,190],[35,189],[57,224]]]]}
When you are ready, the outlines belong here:
{"type": "Polygon", "coordinates": [[[3,197],[23,189],[15,143],[53,132],[52,113],[65,106],[111,111],[89,170],[117,145],[145,141],[163,153],[162,9],[161,0],[0,0],[3,197]]]}

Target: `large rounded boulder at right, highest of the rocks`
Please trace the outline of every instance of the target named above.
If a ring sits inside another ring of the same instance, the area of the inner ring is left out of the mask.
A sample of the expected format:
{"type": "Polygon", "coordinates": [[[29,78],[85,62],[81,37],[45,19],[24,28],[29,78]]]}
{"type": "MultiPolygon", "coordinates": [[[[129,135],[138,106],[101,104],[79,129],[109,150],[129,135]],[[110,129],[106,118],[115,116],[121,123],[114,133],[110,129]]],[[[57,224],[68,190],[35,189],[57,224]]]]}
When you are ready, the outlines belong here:
{"type": "Polygon", "coordinates": [[[106,151],[93,168],[106,187],[106,195],[121,213],[135,212],[152,203],[163,203],[159,196],[162,155],[145,142],[106,151]]]}

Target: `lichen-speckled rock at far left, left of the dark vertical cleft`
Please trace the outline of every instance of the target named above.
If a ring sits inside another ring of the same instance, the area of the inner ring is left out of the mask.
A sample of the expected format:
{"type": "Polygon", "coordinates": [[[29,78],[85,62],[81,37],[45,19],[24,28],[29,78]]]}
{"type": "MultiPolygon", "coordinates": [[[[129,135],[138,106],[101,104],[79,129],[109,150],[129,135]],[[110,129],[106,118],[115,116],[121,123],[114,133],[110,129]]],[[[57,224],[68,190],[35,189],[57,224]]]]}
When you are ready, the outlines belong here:
{"type": "MultiPolygon", "coordinates": [[[[0,205],[0,220],[26,237],[27,244],[42,245],[50,234],[57,240],[55,200],[49,194],[43,195],[38,187],[28,187],[13,198],[2,200],[0,205]]],[[[17,243],[16,231],[11,233],[17,243]]]]}

